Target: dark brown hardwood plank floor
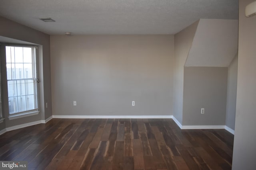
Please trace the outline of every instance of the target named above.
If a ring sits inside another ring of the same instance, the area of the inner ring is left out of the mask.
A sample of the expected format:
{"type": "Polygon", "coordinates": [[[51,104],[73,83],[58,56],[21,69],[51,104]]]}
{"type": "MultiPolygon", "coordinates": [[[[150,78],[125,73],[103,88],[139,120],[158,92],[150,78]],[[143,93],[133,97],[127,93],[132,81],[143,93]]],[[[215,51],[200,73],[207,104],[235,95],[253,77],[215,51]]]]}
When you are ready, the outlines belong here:
{"type": "Polygon", "coordinates": [[[47,170],[231,170],[234,136],[172,119],[52,119],[0,136],[0,160],[47,170]]]}

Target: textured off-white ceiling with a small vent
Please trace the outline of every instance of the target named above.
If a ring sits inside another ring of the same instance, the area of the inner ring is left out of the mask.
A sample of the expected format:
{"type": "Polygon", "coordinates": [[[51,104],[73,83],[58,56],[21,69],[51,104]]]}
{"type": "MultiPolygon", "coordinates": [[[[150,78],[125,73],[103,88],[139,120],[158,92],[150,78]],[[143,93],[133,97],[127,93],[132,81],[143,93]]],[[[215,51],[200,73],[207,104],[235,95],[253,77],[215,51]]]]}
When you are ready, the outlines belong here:
{"type": "Polygon", "coordinates": [[[0,16],[50,35],[174,34],[200,18],[238,19],[238,0],[0,0],[0,16]]]}

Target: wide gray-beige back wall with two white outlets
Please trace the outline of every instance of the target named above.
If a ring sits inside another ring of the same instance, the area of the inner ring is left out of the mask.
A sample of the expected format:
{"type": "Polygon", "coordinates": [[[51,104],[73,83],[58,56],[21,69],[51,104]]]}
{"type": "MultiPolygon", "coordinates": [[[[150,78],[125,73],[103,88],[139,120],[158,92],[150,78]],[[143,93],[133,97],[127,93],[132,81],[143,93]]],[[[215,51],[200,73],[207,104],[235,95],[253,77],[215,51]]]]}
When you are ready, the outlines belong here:
{"type": "Polygon", "coordinates": [[[50,44],[53,115],[172,115],[173,35],[54,35],[50,44]]]}

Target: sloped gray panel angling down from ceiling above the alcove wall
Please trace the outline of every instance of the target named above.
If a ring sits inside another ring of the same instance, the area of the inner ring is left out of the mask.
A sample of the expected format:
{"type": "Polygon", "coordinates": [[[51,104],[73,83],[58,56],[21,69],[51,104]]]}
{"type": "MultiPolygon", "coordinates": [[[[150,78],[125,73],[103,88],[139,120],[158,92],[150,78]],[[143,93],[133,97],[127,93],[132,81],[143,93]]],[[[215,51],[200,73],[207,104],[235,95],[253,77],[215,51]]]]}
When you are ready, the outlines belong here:
{"type": "Polygon", "coordinates": [[[238,50],[238,20],[200,19],[185,66],[228,67],[238,50]]]}

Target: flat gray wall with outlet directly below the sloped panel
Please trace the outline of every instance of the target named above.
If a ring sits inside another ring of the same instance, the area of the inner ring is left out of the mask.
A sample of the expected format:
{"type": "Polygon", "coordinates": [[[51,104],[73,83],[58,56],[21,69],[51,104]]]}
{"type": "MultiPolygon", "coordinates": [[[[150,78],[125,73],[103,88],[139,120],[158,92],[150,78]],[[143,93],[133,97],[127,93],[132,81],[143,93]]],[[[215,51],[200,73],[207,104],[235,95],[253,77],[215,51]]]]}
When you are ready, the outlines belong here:
{"type": "Polygon", "coordinates": [[[227,79],[227,67],[184,67],[182,125],[225,125],[227,79]]]}

